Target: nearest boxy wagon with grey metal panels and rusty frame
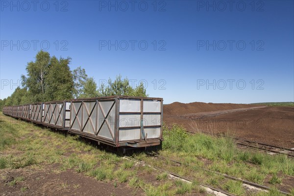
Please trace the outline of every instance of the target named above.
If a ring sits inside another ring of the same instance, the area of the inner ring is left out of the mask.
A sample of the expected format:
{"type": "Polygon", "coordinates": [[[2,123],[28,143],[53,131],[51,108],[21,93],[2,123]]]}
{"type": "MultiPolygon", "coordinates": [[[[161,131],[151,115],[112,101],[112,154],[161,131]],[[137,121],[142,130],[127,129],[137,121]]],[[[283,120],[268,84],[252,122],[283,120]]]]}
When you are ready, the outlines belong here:
{"type": "Polygon", "coordinates": [[[69,132],[112,147],[161,145],[163,99],[129,96],[71,100],[69,132]]]}

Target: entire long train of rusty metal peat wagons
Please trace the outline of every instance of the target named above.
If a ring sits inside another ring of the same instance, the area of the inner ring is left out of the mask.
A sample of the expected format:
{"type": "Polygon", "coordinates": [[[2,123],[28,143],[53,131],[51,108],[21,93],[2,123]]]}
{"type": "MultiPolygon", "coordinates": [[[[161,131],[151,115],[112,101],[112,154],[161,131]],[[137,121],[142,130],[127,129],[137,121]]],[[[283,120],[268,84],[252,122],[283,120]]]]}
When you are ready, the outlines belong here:
{"type": "Polygon", "coordinates": [[[163,99],[130,96],[5,106],[4,115],[67,131],[108,147],[160,147],[163,99]]]}

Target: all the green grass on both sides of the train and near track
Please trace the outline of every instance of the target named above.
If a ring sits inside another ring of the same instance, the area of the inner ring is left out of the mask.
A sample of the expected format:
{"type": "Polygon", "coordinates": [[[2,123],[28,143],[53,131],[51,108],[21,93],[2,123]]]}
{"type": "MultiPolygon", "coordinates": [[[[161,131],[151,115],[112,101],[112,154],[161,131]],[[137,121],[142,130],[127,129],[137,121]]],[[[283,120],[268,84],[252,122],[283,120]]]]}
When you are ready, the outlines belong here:
{"type": "MultiPolygon", "coordinates": [[[[0,136],[6,138],[0,146],[0,169],[43,167],[54,163],[59,165],[56,171],[73,169],[99,181],[111,181],[115,187],[118,186],[117,183],[127,183],[135,190],[142,189],[147,196],[205,192],[196,183],[174,182],[168,179],[168,174],[165,172],[156,173],[148,166],[137,166],[132,160],[125,160],[114,153],[99,150],[76,136],[58,134],[37,126],[27,127],[27,123],[19,123],[16,120],[12,121],[12,125],[6,121],[7,118],[1,123],[1,127],[5,126],[5,130],[0,130],[0,136]],[[14,126],[13,122],[17,122],[18,125],[14,126]],[[147,175],[156,173],[156,185],[140,179],[137,174],[138,168],[147,175]]],[[[243,151],[238,149],[231,139],[215,138],[202,133],[191,135],[178,125],[172,126],[171,129],[165,127],[164,138],[163,150],[159,151],[160,154],[181,161],[183,165],[174,165],[167,160],[153,160],[145,153],[135,154],[134,157],[149,165],[183,176],[191,176],[215,187],[222,187],[235,195],[246,193],[240,184],[227,181],[221,175],[201,172],[201,168],[206,167],[260,184],[270,176],[271,178],[267,179],[270,179],[273,185],[282,183],[283,177],[277,177],[275,175],[277,173],[279,176],[294,175],[294,163],[291,159],[282,155],[270,156],[243,151]]],[[[11,181],[11,186],[19,181],[19,179],[11,181]]],[[[63,183],[60,186],[66,187],[68,184],[63,183]]],[[[275,192],[276,190],[272,188],[271,193],[275,192]]]]}

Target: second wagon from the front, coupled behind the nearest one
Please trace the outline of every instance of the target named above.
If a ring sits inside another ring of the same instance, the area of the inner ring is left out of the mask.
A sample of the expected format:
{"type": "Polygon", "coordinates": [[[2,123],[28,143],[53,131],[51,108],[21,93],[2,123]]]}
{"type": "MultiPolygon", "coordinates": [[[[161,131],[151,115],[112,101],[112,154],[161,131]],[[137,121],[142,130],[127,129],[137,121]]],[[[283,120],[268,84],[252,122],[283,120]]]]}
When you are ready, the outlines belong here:
{"type": "Polygon", "coordinates": [[[43,108],[43,125],[60,130],[69,129],[71,117],[70,101],[45,102],[43,108]]]}

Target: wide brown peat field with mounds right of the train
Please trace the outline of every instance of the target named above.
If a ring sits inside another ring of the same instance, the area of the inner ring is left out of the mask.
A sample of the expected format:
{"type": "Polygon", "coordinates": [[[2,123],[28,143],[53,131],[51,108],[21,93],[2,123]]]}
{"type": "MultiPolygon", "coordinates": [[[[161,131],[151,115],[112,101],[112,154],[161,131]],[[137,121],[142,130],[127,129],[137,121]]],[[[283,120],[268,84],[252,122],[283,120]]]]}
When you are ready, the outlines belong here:
{"type": "Polygon", "coordinates": [[[237,138],[294,147],[294,107],[174,102],[163,111],[168,126],[177,123],[192,132],[230,132],[237,138]]]}

